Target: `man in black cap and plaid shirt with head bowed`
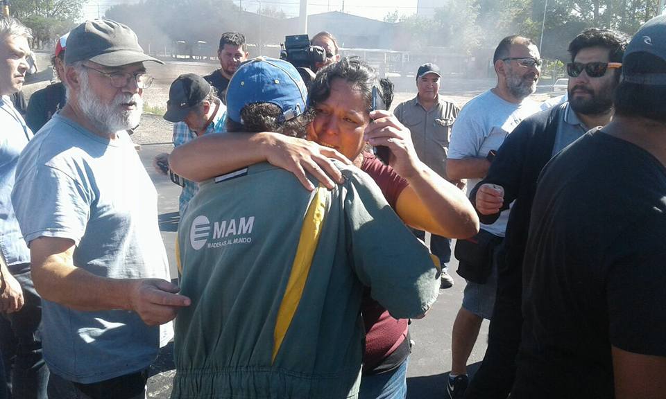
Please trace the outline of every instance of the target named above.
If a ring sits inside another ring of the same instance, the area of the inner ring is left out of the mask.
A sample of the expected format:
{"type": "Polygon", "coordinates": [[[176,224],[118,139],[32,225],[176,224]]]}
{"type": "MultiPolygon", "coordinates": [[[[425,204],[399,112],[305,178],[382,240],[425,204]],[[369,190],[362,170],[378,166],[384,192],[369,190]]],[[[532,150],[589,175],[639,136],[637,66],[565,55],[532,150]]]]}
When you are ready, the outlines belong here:
{"type": "MultiPolygon", "coordinates": [[[[226,132],[227,108],[216,96],[215,89],[194,73],[178,76],[171,83],[167,113],[164,119],[173,125],[173,145],[183,145],[207,133],[226,132]]],[[[169,170],[169,154],[162,152],[153,159],[155,169],[163,174],[169,170]]],[[[187,202],[194,197],[198,184],[179,179],[182,192],[178,202],[180,213],[187,202]]]]}

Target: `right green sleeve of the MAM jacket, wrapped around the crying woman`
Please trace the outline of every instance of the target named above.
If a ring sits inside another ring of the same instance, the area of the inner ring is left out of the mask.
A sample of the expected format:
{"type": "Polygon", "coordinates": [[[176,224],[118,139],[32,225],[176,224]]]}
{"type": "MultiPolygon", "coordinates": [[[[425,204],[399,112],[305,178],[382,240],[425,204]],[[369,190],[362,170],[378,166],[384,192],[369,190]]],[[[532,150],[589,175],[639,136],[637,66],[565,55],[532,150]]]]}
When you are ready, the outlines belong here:
{"type": "Polygon", "coordinates": [[[438,270],[427,248],[388,206],[368,175],[348,177],[347,245],[357,276],[396,319],[423,314],[439,292],[438,270]]]}

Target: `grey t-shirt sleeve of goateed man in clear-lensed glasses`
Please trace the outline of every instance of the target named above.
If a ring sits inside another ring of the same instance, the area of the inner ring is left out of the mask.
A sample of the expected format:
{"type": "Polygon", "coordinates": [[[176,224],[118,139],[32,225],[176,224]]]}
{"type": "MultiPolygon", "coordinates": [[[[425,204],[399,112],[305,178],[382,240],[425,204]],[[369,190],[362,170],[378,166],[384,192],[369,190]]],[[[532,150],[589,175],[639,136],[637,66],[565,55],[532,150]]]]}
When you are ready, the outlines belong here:
{"type": "Polygon", "coordinates": [[[484,143],[485,132],[477,121],[481,115],[474,114],[475,108],[463,107],[454,122],[451,130],[449,152],[447,154],[448,159],[463,159],[478,156],[481,145],[484,143]]]}

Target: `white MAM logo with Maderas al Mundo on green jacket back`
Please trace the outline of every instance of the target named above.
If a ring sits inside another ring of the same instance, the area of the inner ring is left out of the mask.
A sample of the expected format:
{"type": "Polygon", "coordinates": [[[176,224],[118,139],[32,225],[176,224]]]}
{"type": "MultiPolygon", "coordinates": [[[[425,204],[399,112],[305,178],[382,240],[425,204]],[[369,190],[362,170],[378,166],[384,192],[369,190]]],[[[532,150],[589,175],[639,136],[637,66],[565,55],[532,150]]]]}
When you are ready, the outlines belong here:
{"type": "Polygon", "coordinates": [[[238,237],[252,233],[255,217],[238,218],[214,222],[212,229],[210,220],[203,215],[194,218],[189,231],[189,242],[192,248],[202,249],[206,244],[208,248],[221,248],[232,244],[246,244],[252,242],[251,237],[238,237]],[[212,234],[211,234],[212,231],[212,234]],[[210,241],[210,242],[209,242],[210,241]]]}

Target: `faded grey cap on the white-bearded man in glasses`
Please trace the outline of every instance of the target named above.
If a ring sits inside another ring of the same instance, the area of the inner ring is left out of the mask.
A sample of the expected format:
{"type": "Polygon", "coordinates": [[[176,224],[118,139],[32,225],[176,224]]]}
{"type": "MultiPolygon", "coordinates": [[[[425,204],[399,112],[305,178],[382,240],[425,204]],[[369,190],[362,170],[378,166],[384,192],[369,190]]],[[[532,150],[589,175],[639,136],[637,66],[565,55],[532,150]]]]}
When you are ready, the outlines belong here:
{"type": "Polygon", "coordinates": [[[144,53],[133,30],[110,19],[85,21],[69,32],[65,64],[86,60],[105,67],[121,67],[144,61],[164,64],[144,53]]]}

